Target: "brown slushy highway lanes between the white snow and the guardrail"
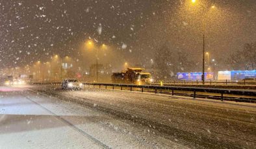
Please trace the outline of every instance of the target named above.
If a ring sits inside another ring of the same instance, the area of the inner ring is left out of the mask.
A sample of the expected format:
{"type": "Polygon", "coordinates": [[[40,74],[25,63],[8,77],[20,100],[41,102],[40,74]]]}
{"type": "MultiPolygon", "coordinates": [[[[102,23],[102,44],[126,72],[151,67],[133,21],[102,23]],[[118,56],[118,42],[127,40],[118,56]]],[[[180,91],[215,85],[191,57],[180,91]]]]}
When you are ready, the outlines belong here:
{"type": "Polygon", "coordinates": [[[129,119],[153,128],[161,137],[190,147],[256,146],[255,104],[106,89],[62,91],[46,86],[32,89],[129,119]]]}

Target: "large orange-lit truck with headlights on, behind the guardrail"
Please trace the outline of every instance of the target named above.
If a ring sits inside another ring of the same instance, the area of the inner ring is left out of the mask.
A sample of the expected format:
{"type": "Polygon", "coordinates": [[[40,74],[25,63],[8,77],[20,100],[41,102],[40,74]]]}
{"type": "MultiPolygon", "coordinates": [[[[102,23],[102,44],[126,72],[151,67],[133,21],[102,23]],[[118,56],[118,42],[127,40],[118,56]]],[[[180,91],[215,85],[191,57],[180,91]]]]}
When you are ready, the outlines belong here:
{"type": "Polygon", "coordinates": [[[150,73],[142,72],[142,68],[127,68],[122,73],[113,73],[111,76],[112,83],[115,84],[151,84],[153,79],[150,73]]]}

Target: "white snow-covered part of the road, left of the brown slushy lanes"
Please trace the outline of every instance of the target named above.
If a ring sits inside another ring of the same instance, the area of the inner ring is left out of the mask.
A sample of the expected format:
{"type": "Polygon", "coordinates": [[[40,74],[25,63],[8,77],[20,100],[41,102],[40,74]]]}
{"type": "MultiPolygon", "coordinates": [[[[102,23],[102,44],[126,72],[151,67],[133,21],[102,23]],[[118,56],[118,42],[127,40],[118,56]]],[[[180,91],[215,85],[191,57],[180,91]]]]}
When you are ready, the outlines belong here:
{"type": "Polygon", "coordinates": [[[1,148],[186,148],[155,128],[29,88],[0,87],[1,148]]]}

